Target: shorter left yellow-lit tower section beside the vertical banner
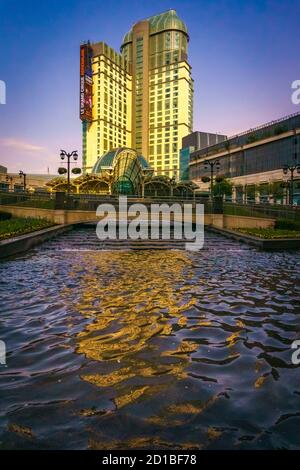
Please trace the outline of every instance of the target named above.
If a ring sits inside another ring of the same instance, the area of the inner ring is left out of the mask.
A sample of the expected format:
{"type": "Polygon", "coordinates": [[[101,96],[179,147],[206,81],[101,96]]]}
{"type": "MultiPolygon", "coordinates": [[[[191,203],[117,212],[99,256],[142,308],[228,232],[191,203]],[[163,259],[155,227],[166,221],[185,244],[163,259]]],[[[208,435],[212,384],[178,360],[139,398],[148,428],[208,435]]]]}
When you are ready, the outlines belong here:
{"type": "Polygon", "coordinates": [[[132,77],[120,54],[103,42],[91,49],[92,118],[83,119],[83,168],[108,150],[131,145],[132,77]]]}

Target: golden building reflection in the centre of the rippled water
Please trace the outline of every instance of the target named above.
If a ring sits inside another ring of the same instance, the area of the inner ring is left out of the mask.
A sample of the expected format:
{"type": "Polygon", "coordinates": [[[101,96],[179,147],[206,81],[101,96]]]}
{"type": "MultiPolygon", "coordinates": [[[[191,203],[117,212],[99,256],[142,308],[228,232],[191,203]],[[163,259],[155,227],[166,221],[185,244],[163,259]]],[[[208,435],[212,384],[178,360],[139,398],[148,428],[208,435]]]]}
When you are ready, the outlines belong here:
{"type": "Polygon", "coordinates": [[[114,403],[121,408],[186,377],[198,345],[173,331],[186,327],[184,313],[195,303],[186,286],[192,273],[187,254],[88,253],[82,263],[71,273],[77,279],[81,273],[76,309],[92,322],[77,335],[77,352],[109,366],[81,378],[114,387],[114,403]]]}

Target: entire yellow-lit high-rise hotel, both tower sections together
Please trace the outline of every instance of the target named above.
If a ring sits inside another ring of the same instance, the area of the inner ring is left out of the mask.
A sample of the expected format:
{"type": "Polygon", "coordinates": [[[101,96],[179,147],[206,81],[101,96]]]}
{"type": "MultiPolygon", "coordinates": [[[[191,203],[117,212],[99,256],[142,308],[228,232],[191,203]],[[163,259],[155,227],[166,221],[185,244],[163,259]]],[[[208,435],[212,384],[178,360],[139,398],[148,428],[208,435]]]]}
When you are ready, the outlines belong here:
{"type": "Polygon", "coordinates": [[[193,127],[188,41],[185,24],[169,10],[134,24],[120,54],[104,43],[81,46],[92,62],[92,115],[81,113],[86,171],[106,151],[128,146],[156,174],[179,177],[181,141],[193,127]]]}

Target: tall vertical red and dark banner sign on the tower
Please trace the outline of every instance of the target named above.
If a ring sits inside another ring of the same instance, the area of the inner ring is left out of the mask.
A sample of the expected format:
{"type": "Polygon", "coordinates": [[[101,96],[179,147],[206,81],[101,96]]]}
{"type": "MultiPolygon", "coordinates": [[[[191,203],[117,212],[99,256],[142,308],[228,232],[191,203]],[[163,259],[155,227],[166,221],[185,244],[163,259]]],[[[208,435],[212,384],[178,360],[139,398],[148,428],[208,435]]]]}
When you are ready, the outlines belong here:
{"type": "Polygon", "coordinates": [[[92,49],[89,44],[80,46],[80,119],[92,121],[92,49]]]}

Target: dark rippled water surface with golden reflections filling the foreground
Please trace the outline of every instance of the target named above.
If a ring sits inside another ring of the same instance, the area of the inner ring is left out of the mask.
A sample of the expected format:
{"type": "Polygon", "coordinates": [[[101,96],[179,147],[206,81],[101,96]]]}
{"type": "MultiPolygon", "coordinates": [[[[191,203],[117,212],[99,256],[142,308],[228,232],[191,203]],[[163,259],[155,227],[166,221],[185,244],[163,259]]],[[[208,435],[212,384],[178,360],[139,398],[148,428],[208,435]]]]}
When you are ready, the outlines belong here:
{"type": "Polygon", "coordinates": [[[0,266],[0,448],[300,448],[300,252],[207,234],[103,251],[84,228],[0,266]]]}

